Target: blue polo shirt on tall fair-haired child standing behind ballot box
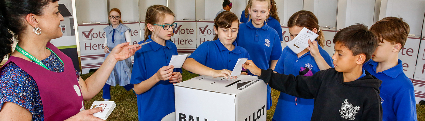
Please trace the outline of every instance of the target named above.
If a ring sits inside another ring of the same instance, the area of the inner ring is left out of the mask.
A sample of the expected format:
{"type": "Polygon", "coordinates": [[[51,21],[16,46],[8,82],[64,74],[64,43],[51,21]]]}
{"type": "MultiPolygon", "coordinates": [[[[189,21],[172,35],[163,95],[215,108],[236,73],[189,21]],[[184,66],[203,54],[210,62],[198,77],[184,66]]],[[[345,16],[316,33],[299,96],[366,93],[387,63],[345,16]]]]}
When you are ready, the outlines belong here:
{"type": "MultiPolygon", "coordinates": [[[[252,62],[260,69],[269,69],[270,61],[278,60],[282,54],[279,35],[276,30],[266,25],[266,22],[261,28],[254,27],[251,21],[239,25],[239,33],[235,41],[238,46],[248,51],[252,62]]],[[[271,93],[272,88],[267,85],[267,110],[272,106],[271,93]]]]}

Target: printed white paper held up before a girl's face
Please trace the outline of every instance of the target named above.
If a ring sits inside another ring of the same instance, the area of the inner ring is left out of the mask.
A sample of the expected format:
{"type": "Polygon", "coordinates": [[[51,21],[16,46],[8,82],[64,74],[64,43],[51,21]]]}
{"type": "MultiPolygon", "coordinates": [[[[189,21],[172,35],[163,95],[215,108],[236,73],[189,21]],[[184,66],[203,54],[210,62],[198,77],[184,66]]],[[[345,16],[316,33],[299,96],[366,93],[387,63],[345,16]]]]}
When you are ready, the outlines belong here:
{"type": "Polygon", "coordinates": [[[289,49],[298,54],[309,46],[309,39],[314,41],[317,36],[319,35],[304,27],[303,30],[298,33],[297,37],[292,39],[292,41],[286,42],[286,45],[289,47],[289,49]]]}

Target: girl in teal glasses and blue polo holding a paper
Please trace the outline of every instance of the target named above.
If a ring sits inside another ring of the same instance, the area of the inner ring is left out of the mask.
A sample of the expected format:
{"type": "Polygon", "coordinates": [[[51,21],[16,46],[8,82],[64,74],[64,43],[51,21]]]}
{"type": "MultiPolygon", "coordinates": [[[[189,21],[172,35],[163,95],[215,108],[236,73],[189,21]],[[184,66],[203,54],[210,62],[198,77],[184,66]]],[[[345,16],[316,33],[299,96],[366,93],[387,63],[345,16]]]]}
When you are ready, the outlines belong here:
{"type": "Polygon", "coordinates": [[[145,42],[134,55],[130,83],[137,93],[139,121],[161,121],[176,111],[174,83],[181,82],[181,68],[167,66],[171,56],[178,55],[176,45],[170,41],[174,14],[164,5],[147,8],[145,21],[145,42]]]}

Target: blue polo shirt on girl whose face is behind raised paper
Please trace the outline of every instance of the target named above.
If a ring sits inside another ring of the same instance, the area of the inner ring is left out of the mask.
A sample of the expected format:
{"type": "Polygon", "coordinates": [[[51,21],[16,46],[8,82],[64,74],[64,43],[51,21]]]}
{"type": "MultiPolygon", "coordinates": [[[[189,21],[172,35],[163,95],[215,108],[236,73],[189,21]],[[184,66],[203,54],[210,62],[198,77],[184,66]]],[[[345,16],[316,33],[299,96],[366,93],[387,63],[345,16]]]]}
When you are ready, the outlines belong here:
{"type": "MultiPolygon", "coordinates": [[[[320,55],[322,55],[326,63],[333,68],[333,60],[328,52],[320,46],[317,47],[319,47],[320,55]]],[[[313,74],[320,71],[310,52],[298,58],[295,52],[289,49],[289,47],[285,47],[274,71],[279,74],[293,74],[297,76],[301,67],[309,68],[313,74]]],[[[313,106],[314,99],[297,98],[297,104],[295,104],[295,96],[280,92],[273,119],[275,121],[310,121],[313,114],[313,106]]]]}

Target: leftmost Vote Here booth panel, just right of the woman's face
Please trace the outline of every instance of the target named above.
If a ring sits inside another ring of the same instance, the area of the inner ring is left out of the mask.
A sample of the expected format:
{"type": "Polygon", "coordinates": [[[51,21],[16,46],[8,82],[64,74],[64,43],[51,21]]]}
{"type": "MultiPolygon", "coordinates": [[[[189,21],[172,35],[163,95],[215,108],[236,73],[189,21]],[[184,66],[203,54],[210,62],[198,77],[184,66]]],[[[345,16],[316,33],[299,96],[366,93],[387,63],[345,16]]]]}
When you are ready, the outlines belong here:
{"type": "Polygon", "coordinates": [[[108,24],[106,0],[75,0],[82,74],[102,65],[108,24]]]}

